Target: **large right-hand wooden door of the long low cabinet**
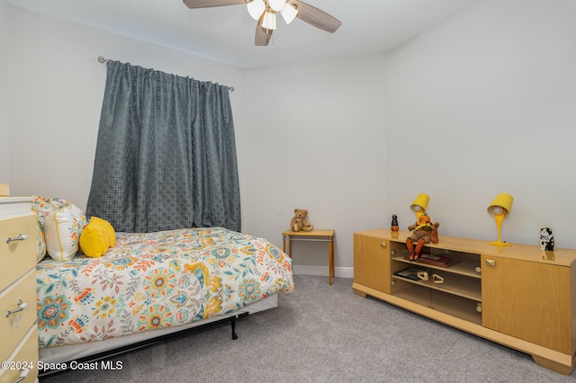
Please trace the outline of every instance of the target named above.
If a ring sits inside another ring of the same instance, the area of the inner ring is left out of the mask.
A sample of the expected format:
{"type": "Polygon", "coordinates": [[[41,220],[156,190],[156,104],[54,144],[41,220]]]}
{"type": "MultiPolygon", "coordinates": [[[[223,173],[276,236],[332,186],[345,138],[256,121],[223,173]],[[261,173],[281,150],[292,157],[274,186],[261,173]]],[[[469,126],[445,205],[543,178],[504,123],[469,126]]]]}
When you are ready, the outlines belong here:
{"type": "Polygon", "coordinates": [[[482,325],[572,355],[571,270],[482,256],[482,325]]]}

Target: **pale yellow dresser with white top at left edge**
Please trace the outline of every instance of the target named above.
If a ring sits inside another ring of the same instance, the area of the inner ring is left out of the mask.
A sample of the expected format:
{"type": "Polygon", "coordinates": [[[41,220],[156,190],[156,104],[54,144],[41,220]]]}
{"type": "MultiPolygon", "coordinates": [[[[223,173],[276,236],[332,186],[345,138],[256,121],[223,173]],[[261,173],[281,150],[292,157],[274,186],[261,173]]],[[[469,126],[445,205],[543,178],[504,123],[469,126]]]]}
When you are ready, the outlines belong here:
{"type": "Polygon", "coordinates": [[[35,242],[31,198],[0,197],[0,383],[38,381],[35,242]]]}

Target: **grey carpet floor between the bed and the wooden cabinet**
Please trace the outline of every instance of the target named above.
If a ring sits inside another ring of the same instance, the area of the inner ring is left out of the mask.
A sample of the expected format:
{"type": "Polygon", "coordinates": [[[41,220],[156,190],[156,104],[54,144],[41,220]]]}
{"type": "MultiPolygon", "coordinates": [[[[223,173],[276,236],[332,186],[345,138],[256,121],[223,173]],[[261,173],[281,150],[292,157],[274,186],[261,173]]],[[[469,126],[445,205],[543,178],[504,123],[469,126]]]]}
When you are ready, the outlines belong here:
{"type": "Polygon", "coordinates": [[[49,382],[573,382],[532,358],[352,291],[352,280],[295,276],[279,307],[112,358],[121,370],[49,382]]]}

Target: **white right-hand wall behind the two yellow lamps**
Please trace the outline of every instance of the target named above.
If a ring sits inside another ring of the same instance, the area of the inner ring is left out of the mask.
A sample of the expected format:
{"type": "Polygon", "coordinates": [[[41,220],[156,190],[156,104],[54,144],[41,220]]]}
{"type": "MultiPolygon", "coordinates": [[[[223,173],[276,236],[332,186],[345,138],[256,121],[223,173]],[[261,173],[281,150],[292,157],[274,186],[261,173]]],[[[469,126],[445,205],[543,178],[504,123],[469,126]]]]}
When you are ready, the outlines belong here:
{"type": "MultiPolygon", "coordinates": [[[[430,195],[440,234],[496,239],[486,212],[515,198],[502,239],[572,236],[576,2],[486,0],[393,49],[386,63],[390,207],[401,227],[430,195]]],[[[392,212],[391,210],[391,212],[392,212]]]]}

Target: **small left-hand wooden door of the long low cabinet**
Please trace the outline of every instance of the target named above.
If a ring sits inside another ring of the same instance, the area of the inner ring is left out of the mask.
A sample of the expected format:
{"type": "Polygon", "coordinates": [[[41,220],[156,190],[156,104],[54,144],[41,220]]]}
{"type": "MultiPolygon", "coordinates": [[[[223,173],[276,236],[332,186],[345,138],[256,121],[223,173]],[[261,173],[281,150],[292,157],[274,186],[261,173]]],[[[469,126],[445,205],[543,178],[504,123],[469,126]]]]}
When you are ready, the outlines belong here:
{"type": "Polygon", "coordinates": [[[389,241],[372,236],[354,236],[354,281],[390,294],[389,241]]]}

